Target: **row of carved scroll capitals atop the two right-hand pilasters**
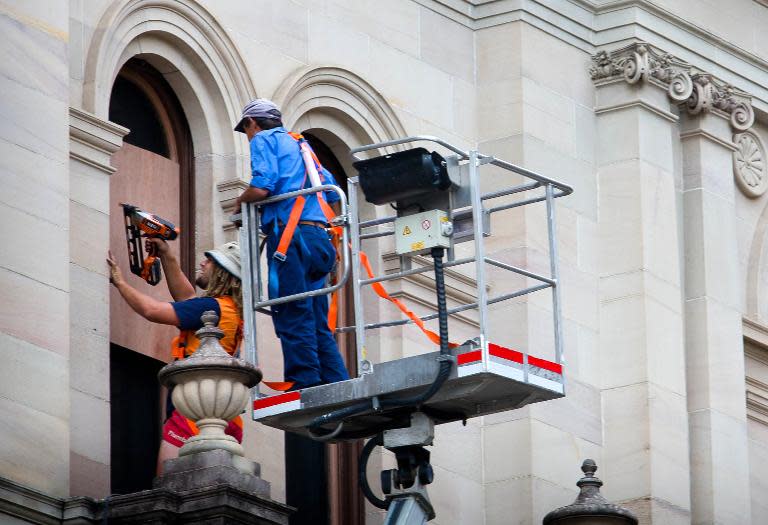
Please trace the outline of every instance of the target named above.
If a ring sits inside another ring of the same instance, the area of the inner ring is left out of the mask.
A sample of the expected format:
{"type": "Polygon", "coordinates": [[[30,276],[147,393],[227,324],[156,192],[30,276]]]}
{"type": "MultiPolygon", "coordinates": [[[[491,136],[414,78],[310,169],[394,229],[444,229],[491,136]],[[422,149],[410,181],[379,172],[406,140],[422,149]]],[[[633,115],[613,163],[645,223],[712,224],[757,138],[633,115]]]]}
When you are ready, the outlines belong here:
{"type": "Polygon", "coordinates": [[[610,53],[600,51],[592,57],[589,75],[596,82],[623,77],[636,84],[653,79],[666,87],[675,104],[684,103],[689,113],[722,111],[736,131],[746,131],[755,122],[752,99],[747,93],[708,73],[694,72],[687,62],[647,42],[636,42],[610,53]]]}

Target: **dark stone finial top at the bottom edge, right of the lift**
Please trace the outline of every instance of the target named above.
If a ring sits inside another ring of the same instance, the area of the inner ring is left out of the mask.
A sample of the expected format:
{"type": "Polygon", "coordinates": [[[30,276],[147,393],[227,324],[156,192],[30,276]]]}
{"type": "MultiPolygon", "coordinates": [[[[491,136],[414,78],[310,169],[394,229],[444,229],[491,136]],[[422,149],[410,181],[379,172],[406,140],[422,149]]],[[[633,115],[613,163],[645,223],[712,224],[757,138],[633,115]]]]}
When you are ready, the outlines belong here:
{"type": "Polygon", "coordinates": [[[544,516],[543,525],[637,525],[634,514],[608,503],[600,494],[603,482],[595,477],[597,464],[594,460],[584,460],[581,471],[584,477],[576,482],[581,489],[576,501],[544,516]]]}

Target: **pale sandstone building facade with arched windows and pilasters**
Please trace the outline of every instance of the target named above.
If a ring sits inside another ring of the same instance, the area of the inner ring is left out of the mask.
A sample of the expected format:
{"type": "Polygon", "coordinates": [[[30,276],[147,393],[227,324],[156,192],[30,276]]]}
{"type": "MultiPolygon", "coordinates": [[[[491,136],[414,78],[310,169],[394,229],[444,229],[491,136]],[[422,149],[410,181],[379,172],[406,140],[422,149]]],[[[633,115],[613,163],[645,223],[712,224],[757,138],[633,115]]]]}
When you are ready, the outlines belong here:
{"type": "MultiPolygon", "coordinates": [[[[234,239],[249,164],[232,127],[258,96],[345,176],[350,148],[428,134],[575,189],[557,201],[567,397],[439,427],[434,523],[540,523],[573,500],[586,457],[641,523],[768,523],[764,0],[2,0],[0,24],[0,521],[147,483],[131,469],[151,463],[173,331],[110,290],[107,250],[127,265],[118,203],[180,223],[189,271],[234,239]],[[133,424],[137,406],[155,423],[133,424]]],[[[491,250],[541,267],[543,218],[510,211],[491,250]]],[[[398,264],[386,242],[369,250],[377,272],[398,264]]],[[[426,312],[430,286],[394,291],[426,312]]],[[[448,287],[474,293],[458,271],[448,287]]],[[[550,319],[530,295],[491,324],[547,357],[550,319]]],[[[451,336],[474,328],[470,313],[451,336]]],[[[406,326],[368,352],[430,349],[406,326]]],[[[245,435],[284,501],[282,433],[245,435]]],[[[337,523],[360,504],[349,457],[329,460],[337,523]]]]}

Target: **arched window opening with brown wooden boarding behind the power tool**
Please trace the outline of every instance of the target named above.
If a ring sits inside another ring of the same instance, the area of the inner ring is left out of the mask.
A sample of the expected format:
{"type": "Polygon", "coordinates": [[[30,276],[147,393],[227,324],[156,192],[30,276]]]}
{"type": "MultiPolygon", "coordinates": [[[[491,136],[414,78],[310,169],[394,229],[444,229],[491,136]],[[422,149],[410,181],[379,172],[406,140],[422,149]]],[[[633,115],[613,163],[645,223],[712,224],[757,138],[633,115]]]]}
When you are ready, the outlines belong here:
{"type": "MultiPolygon", "coordinates": [[[[110,179],[110,250],[133,287],[160,301],[171,301],[163,277],[150,286],[130,273],[125,218],[120,203],[154,213],[181,228],[171,251],[188,277],[194,240],[192,199],[192,140],[184,112],[162,75],[147,62],[129,60],[115,80],[110,120],[129,128],[123,147],[112,156],[117,171],[110,179]]],[[[177,335],[171,326],[151,323],[126,304],[117,290],[110,296],[110,341],[120,347],[170,360],[170,342],[177,335]]]]}

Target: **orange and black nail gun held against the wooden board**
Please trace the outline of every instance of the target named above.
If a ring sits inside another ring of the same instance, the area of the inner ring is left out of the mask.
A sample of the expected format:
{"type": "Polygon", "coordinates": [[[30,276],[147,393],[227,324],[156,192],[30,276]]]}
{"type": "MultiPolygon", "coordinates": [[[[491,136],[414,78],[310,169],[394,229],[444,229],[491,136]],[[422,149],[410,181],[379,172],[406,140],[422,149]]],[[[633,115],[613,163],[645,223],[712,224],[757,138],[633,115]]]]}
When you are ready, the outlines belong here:
{"type": "Polygon", "coordinates": [[[132,204],[120,203],[125,215],[125,236],[128,240],[128,259],[131,273],[134,273],[155,286],[162,279],[160,259],[155,253],[155,245],[147,242],[147,256],[144,257],[141,238],[160,238],[172,241],[179,236],[180,230],[171,222],[141,211],[132,204]]]}

